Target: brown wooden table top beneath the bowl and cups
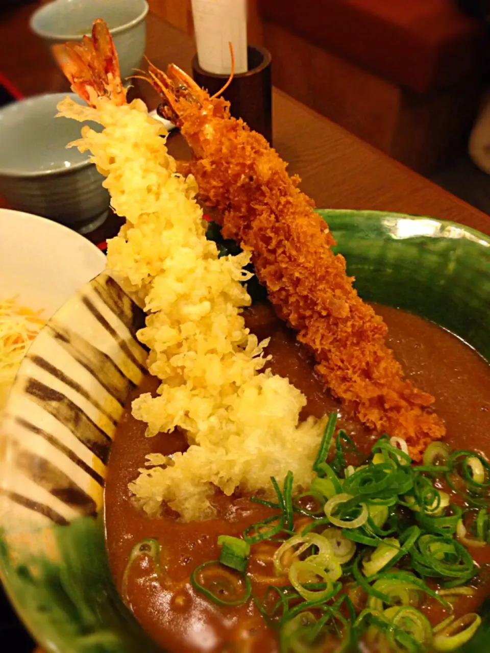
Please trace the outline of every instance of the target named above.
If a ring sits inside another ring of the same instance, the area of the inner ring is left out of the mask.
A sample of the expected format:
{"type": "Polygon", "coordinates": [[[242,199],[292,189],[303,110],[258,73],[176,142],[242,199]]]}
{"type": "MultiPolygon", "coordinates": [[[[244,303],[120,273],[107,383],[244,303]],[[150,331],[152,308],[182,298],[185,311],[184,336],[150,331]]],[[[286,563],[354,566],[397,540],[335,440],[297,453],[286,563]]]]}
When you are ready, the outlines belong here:
{"type": "MultiPolygon", "coordinates": [[[[68,90],[66,80],[57,71],[42,43],[29,32],[29,16],[37,4],[33,2],[0,14],[0,70],[25,95],[68,90]]],[[[163,68],[173,61],[190,72],[195,54],[193,40],[152,14],[148,16],[146,50],[157,67],[163,68]]],[[[135,81],[133,93],[143,97],[150,108],[155,108],[159,102],[154,91],[139,80],[135,81]]],[[[359,97],[359,102],[362,102],[362,97],[359,97]]],[[[487,215],[284,93],[274,90],[272,111],[274,146],[289,161],[290,171],[300,174],[302,189],[316,200],[319,207],[433,215],[490,234],[487,215]]],[[[177,157],[188,153],[178,134],[169,139],[169,148],[177,157]]],[[[0,206],[6,206],[1,198],[0,206]]],[[[91,234],[90,239],[100,242],[114,236],[119,225],[120,220],[111,216],[101,229],[91,234]]],[[[18,627],[1,596],[0,637],[4,643],[7,638],[5,650],[22,653],[32,648],[31,641],[18,627]]]]}

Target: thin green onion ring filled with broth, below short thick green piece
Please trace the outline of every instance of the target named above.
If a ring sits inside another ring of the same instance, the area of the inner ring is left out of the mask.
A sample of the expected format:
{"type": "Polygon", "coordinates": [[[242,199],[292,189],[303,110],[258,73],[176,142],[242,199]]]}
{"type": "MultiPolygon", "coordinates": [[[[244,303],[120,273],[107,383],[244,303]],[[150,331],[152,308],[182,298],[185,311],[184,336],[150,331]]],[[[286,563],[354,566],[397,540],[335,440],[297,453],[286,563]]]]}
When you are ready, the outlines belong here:
{"type": "Polygon", "coordinates": [[[197,592],[218,605],[243,605],[250,599],[252,586],[246,575],[210,560],[191,573],[191,583],[197,592]]]}

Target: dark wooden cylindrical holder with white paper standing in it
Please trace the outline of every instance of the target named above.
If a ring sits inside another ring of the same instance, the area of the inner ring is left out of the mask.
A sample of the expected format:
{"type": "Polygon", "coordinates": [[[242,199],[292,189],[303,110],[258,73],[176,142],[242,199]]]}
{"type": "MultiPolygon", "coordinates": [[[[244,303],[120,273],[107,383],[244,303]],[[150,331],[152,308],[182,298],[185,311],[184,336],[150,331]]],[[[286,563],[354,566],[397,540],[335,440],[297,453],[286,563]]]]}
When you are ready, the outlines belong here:
{"type": "MultiPolygon", "coordinates": [[[[248,46],[248,71],[237,74],[223,91],[223,97],[230,103],[234,118],[242,118],[250,129],[258,131],[272,145],[272,79],[269,50],[259,46],[248,46]]],[[[228,75],[204,71],[197,55],[192,59],[194,81],[210,95],[218,93],[225,85],[228,75]]]]}

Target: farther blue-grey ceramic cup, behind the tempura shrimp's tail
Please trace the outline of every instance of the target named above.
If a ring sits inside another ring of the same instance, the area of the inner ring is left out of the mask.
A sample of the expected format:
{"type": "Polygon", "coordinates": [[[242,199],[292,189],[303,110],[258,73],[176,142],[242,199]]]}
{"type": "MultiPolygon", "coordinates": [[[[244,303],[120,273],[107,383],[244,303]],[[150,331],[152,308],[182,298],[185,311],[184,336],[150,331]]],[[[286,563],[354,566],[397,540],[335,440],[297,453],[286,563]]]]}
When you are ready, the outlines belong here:
{"type": "Polygon", "coordinates": [[[31,29],[46,46],[90,35],[103,18],[118,52],[122,79],[139,67],[146,44],[146,0],[54,0],[34,12],[31,29]]]}

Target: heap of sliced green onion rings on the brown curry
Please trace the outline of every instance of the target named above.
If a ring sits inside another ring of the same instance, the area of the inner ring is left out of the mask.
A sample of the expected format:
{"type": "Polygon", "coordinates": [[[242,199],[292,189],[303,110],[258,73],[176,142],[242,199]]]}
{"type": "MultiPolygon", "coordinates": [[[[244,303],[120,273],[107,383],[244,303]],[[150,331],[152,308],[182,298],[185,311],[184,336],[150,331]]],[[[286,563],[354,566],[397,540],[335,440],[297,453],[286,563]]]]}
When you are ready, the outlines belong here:
{"type": "Polygon", "coordinates": [[[353,459],[347,454],[359,460],[361,454],[335,427],[332,413],[310,487],[295,488],[291,471],[284,482],[271,477],[276,500],[252,501],[274,514],[247,528],[243,539],[221,535],[220,560],[197,567],[193,586],[220,605],[242,605],[252,591],[248,556],[253,545],[268,541],[275,547],[278,584],[253,601],[267,624],[280,629],[285,651],[320,650],[327,642],[340,651],[361,638],[410,653],[431,642],[436,650],[453,650],[472,637],[479,617],[449,618],[433,629],[418,608],[424,595],[449,610],[448,592],[451,602],[473,592],[465,583],[478,567],[463,544],[490,542],[490,464],[478,453],[451,452],[439,442],[427,447],[423,464],[412,464],[406,443],[384,435],[369,460],[348,465],[353,459]],[[453,494],[441,489],[443,479],[478,511],[451,502],[453,494]],[[305,526],[298,514],[310,523],[305,526]],[[291,584],[284,586],[286,579],[291,584]],[[357,618],[350,597],[337,597],[342,581],[367,595],[357,618]]]}

